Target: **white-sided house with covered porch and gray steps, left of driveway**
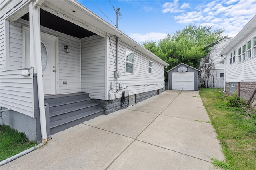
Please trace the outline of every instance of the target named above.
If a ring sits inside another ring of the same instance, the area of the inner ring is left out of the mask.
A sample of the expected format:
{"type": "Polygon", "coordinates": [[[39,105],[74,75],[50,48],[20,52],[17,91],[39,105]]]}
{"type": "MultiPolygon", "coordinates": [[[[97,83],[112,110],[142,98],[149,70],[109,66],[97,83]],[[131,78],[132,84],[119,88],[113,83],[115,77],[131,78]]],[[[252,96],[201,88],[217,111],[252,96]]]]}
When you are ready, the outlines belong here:
{"type": "Polygon", "coordinates": [[[2,0],[0,14],[4,124],[30,140],[163,92],[168,64],[76,1],[2,0]]]}

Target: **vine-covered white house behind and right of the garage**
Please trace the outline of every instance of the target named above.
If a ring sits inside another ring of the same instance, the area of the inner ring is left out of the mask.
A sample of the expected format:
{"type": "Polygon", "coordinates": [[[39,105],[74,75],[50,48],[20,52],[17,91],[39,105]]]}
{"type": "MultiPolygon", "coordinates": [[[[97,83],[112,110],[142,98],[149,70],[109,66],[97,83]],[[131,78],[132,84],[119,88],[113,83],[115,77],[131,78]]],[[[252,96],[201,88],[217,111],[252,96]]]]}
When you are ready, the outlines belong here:
{"type": "Polygon", "coordinates": [[[198,86],[203,88],[224,88],[224,64],[220,52],[233,38],[225,36],[210,44],[211,51],[200,63],[198,86]]]}

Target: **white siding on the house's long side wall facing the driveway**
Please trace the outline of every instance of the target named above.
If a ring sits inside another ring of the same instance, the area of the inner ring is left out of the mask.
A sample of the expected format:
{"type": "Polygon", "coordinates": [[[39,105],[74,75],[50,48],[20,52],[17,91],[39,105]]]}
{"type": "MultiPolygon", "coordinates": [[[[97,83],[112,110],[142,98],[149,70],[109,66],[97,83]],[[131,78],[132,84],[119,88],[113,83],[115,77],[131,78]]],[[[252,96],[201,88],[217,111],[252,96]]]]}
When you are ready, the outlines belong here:
{"type": "MultiPolygon", "coordinates": [[[[116,79],[114,78],[114,71],[116,70],[116,65],[114,63],[114,61],[116,61],[116,41],[114,38],[111,38],[111,44],[112,49],[109,46],[108,57],[108,90],[110,90],[110,82],[116,82],[116,79]]],[[[121,76],[117,81],[118,83],[122,83],[123,88],[129,90],[129,95],[158,90],[164,87],[164,66],[156,61],[152,61],[152,74],[148,74],[148,59],[149,58],[139,51],[136,51],[122,41],[118,41],[118,71],[121,73],[121,76]],[[125,73],[125,49],[127,48],[134,52],[133,74],[125,73]]],[[[115,83],[114,89],[116,88],[115,83]]],[[[121,97],[121,94],[121,92],[118,92],[118,98],[121,97]]]]}

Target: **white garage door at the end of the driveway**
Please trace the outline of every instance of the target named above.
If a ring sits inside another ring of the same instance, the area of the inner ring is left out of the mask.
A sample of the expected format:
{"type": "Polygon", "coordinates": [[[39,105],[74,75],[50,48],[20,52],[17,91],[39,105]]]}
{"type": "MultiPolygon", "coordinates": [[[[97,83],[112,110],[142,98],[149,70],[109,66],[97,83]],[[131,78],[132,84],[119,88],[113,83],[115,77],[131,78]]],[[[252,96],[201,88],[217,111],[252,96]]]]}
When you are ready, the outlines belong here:
{"type": "Polygon", "coordinates": [[[173,72],[172,90],[194,90],[194,72],[173,72]]]}

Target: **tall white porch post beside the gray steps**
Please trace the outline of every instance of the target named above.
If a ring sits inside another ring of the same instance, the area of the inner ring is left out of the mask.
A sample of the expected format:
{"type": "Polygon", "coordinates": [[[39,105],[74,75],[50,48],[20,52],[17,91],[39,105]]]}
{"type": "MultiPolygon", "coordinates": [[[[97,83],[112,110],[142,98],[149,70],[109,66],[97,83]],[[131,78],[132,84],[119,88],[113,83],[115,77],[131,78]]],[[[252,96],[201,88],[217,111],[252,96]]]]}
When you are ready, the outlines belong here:
{"type": "MultiPolygon", "coordinates": [[[[30,33],[30,61],[37,74],[38,100],[40,109],[41,134],[43,141],[47,140],[46,116],[44,109],[44,88],[41,64],[41,35],[40,35],[40,4],[38,1],[29,4],[29,33],[30,33]]],[[[41,1],[44,2],[44,1],[41,1]]]]}

